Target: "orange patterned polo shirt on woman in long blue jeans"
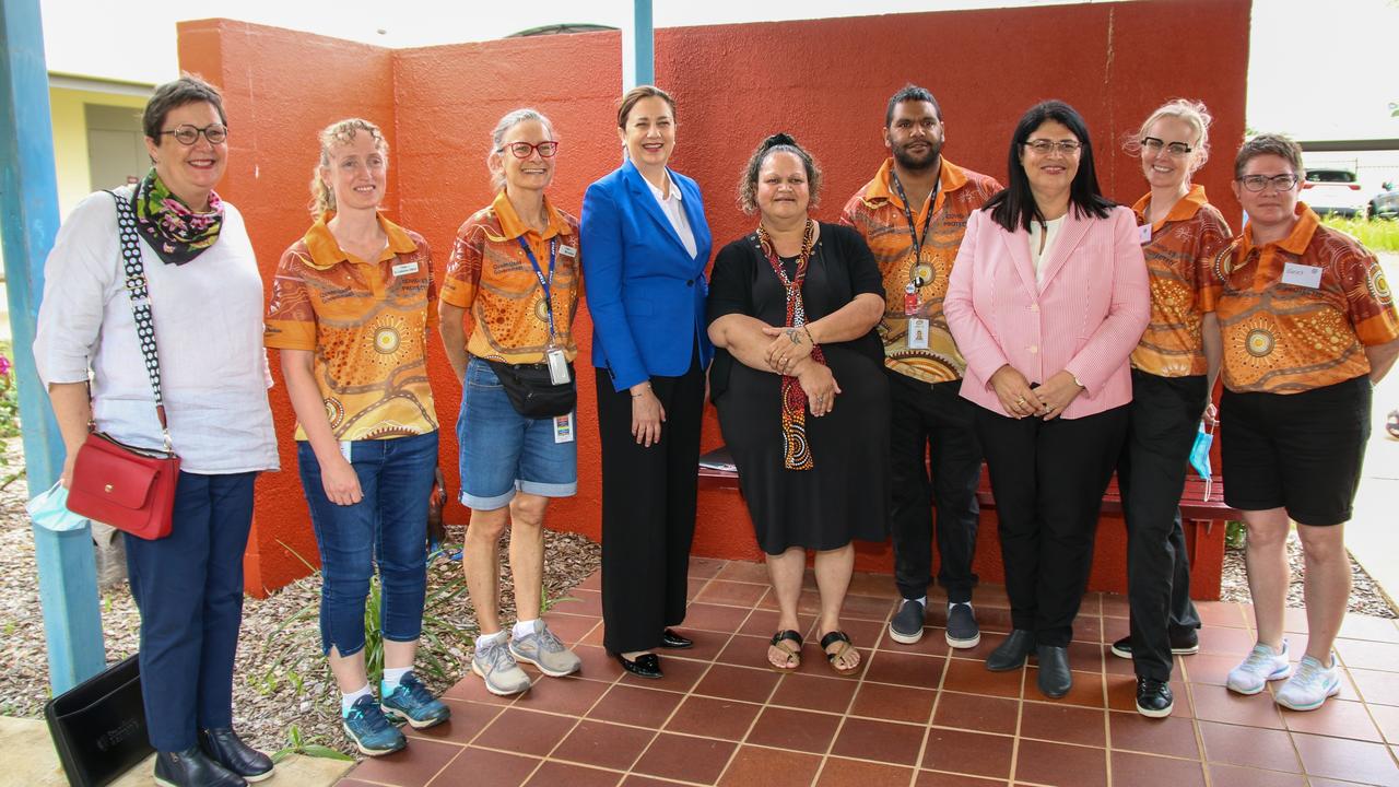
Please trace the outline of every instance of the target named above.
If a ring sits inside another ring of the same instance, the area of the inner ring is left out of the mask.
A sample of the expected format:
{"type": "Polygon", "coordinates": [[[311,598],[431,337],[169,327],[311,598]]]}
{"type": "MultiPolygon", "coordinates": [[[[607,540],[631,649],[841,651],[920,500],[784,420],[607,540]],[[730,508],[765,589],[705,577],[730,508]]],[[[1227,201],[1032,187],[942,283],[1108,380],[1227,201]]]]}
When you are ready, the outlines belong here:
{"type": "MultiPolygon", "coordinates": [[[[315,353],[313,374],[336,440],[438,429],[425,339],[436,325],[427,241],[383,216],[389,245],[369,263],[343,251],[325,213],[277,263],[264,343],[315,353]]],[[[297,440],[306,433],[297,424],[297,440]]]]}

